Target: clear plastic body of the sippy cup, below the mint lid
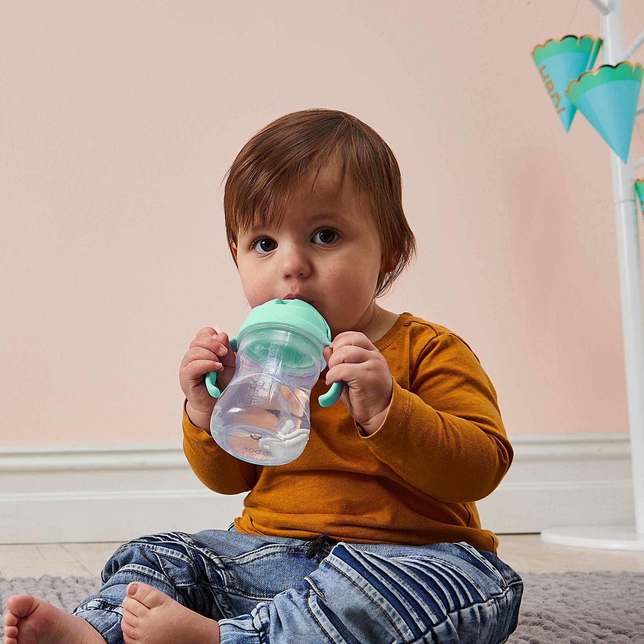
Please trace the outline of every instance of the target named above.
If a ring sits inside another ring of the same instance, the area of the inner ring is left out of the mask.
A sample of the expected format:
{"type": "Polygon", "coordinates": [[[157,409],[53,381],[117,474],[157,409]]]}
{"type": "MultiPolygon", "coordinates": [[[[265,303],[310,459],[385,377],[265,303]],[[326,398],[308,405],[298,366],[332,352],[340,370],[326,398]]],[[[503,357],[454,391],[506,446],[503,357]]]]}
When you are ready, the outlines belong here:
{"type": "Polygon", "coordinates": [[[287,327],[254,328],[242,336],[235,375],[211,417],[217,444],[249,463],[297,459],[310,433],[310,392],[326,366],[322,348],[287,327]]]}

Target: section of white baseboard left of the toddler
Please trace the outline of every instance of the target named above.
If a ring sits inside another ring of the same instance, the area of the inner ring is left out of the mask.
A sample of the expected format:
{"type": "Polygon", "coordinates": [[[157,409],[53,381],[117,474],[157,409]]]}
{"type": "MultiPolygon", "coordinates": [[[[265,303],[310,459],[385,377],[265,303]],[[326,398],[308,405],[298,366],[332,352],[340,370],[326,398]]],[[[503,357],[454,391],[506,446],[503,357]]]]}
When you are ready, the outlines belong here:
{"type": "Polygon", "coordinates": [[[244,496],[205,488],[180,443],[0,448],[1,544],[225,530],[244,496]]]}

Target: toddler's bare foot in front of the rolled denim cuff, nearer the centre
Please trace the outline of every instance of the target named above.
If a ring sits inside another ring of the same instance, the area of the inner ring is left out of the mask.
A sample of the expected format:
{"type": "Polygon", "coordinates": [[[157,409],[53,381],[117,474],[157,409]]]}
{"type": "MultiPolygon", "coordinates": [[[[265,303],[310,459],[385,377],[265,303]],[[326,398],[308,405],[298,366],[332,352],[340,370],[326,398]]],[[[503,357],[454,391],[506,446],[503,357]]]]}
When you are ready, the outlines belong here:
{"type": "Polygon", "coordinates": [[[191,611],[147,583],[132,582],[126,592],[121,621],[125,644],[219,644],[216,621],[191,611]]]}

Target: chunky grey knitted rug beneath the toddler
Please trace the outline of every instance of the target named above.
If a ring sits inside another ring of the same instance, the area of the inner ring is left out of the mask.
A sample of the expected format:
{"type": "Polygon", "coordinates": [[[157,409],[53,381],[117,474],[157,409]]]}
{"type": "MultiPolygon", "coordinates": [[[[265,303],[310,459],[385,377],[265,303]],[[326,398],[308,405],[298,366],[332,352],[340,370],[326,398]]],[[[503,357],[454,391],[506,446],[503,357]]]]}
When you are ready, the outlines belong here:
{"type": "MultiPolygon", "coordinates": [[[[644,573],[524,573],[519,625],[508,644],[644,643],[644,573]]],[[[29,593],[71,611],[99,578],[0,580],[6,598],[29,593]]],[[[0,620],[1,622],[1,620],[0,620]]]]}

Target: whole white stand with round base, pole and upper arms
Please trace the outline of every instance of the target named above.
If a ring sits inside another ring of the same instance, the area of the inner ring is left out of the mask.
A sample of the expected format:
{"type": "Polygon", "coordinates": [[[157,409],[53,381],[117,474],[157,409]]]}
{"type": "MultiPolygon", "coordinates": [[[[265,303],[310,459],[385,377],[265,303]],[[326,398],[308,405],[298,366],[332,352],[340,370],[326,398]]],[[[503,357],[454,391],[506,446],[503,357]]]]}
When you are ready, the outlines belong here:
{"type": "MultiPolygon", "coordinates": [[[[616,65],[627,60],[644,41],[644,32],[626,48],[621,0],[591,2],[601,14],[604,64],[616,65]]],[[[611,170],[620,267],[621,325],[629,406],[635,525],[551,528],[544,530],[541,538],[545,542],[559,545],[644,550],[644,298],[632,156],[629,155],[628,163],[623,164],[611,150],[611,170]]]]}

